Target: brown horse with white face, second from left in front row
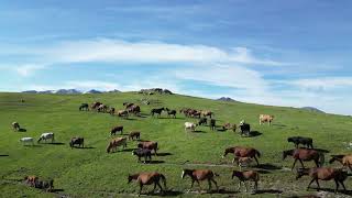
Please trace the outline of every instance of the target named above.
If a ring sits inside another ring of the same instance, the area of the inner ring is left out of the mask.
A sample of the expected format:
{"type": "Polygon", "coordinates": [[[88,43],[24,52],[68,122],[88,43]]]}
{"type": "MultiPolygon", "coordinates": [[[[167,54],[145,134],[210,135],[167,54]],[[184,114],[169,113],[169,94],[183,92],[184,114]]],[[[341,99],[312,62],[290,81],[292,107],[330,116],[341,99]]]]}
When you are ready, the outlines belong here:
{"type": "Polygon", "coordinates": [[[195,182],[197,182],[198,186],[199,186],[199,190],[200,190],[199,180],[208,180],[209,191],[211,190],[211,183],[213,183],[216,185],[217,190],[219,191],[218,183],[213,179],[215,176],[219,176],[219,175],[213,173],[212,170],[210,170],[210,169],[184,169],[183,174],[182,174],[182,178],[185,178],[186,175],[188,175],[191,178],[190,189],[194,187],[195,182]]]}

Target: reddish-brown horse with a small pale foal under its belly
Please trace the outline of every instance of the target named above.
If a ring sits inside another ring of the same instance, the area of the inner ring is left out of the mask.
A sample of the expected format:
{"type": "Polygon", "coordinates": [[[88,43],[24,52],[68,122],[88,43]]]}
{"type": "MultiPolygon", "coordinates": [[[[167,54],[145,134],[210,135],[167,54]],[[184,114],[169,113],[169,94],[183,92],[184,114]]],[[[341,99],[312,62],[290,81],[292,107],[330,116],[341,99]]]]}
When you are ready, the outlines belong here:
{"type": "Polygon", "coordinates": [[[234,163],[237,157],[250,157],[255,160],[257,166],[260,165],[260,162],[257,161],[256,156],[261,157],[261,153],[253,147],[243,147],[243,146],[228,147],[224,150],[222,158],[224,158],[229,153],[233,153],[234,155],[232,163],[234,163]]]}

